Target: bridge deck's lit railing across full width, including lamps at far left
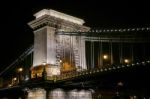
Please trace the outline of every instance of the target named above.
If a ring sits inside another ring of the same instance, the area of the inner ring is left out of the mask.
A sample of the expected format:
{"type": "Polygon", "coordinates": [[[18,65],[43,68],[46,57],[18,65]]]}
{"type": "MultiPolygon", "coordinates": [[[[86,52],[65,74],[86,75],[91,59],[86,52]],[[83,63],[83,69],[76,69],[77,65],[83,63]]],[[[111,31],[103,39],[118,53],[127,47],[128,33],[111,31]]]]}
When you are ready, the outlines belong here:
{"type": "Polygon", "coordinates": [[[21,83],[26,83],[26,82],[31,82],[35,80],[43,80],[43,81],[51,81],[52,83],[59,83],[59,82],[65,82],[68,80],[75,80],[75,79],[80,79],[80,78],[86,78],[86,77],[93,77],[94,75],[98,74],[104,74],[112,71],[118,71],[118,70],[123,70],[123,69],[128,69],[132,67],[137,67],[137,66],[149,66],[150,65],[150,60],[148,61],[143,61],[143,62],[137,62],[137,63],[132,63],[132,64],[122,64],[118,66],[108,66],[108,67],[103,67],[103,68],[94,68],[91,70],[83,70],[83,71],[78,71],[78,72],[70,72],[66,74],[61,74],[57,76],[47,76],[47,75],[42,75],[42,77],[34,78],[34,79],[21,79],[17,77],[13,77],[12,79],[9,79],[8,81],[5,81],[3,86],[1,88],[6,88],[6,87],[13,87],[20,85],[21,83]]]}

